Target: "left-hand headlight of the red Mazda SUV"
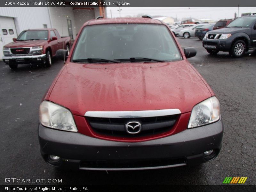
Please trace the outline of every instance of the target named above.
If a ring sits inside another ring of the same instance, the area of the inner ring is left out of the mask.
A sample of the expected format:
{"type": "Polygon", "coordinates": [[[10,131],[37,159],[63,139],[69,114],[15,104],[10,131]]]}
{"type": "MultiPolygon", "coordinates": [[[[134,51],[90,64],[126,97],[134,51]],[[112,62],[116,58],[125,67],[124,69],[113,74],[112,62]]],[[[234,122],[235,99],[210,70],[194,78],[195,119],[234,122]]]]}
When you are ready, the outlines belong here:
{"type": "Polygon", "coordinates": [[[77,132],[72,113],[50,101],[43,101],[39,107],[39,121],[45,127],[63,131],[77,132]]]}

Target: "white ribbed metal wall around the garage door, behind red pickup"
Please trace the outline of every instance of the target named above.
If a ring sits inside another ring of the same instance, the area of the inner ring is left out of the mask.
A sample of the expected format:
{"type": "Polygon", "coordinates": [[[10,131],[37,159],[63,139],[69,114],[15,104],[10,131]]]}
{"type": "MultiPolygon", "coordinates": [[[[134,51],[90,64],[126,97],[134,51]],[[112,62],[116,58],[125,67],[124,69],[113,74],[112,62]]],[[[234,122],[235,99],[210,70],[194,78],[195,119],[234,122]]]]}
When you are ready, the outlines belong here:
{"type": "Polygon", "coordinates": [[[0,16],[14,18],[18,35],[29,28],[43,28],[43,24],[51,28],[47,7],[0,7],[0,16]]]}

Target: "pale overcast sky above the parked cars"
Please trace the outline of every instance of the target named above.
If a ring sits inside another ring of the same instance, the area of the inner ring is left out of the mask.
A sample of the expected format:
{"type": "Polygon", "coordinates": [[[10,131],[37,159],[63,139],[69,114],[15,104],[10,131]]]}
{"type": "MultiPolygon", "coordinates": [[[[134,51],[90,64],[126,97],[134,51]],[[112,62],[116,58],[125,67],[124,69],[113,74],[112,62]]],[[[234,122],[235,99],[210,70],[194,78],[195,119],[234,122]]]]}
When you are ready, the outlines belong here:
{"type": "MultiPolygon", "coordinates": [[[[107,7],[108,18],[119,17],[119,7],[107,7]],[[111,10],[111,11],[110,11],[111,10]]],[[[237,13],[237,7],[121,7],[121,17],[145,15],[162,15],[173,18],[196,18],[196,19],[230,19],[237,13]]],[[[239,7],[239,17],[241,13],[256,13],[256,7],[239,7]]]]}

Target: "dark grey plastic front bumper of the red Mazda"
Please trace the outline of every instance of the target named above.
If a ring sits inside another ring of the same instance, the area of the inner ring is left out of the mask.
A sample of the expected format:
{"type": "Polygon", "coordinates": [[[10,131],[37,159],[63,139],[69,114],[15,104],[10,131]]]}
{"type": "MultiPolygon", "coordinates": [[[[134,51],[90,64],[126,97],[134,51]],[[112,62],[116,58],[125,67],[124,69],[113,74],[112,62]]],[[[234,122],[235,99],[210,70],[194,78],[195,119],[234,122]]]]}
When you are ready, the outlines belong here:
{"type": "Polygon", "coordinates": [[[88,137],[78,132],[38,128],[41,154],[56,167],[81,170],[143,170],[200,164],[214,159],[221,148],[221,120],[161,139],[116,142],[88,137]],[[205,158],[204,152],[215,150],[205,158]],[[52,163],[48,155],[59,156],[52,163]]]}

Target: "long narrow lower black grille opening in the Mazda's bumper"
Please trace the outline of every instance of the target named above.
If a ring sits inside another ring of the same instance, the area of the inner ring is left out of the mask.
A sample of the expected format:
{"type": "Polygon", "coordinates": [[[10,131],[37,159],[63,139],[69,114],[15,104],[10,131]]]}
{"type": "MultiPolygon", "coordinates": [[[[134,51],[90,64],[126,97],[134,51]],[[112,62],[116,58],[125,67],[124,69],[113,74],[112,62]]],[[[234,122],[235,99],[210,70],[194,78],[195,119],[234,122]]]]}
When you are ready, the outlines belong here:
{"type": "Polygon", "coordinates": [[[80,167],[87,168],[138,168],[184,164],[186,158],[155,159],[155,160],[91,160],[82,161],[80,167]]]}

